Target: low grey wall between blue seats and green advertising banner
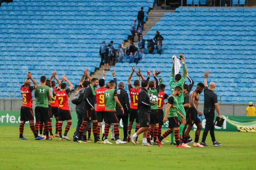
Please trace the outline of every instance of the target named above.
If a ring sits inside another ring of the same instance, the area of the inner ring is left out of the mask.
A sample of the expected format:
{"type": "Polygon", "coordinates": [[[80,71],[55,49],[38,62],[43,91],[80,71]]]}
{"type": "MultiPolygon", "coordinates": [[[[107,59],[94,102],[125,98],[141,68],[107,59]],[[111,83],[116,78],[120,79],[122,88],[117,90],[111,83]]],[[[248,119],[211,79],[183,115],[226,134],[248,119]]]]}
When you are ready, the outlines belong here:
{"type": "MultiPolygon", "coordinates": [[[[8,99],[0,98],[0,111],[20,111],[22,99],[8,99]]],[[[68,102],[69,109],[71,112],[75,112],[75,105],[68,102]]],[[[245,109],[248,104],[236,104],[236,103],[219,103],[220,112],[222,115],[229,116],[246,116],[245,109]]],[[[165,110],[166,105],[164,105],[165,110]]],[[[203,111],[203,103],[199,103],[199,110],[203,111]]],[[[35,108],[35,99],[33,100],[33,110],[35,108]]]]}

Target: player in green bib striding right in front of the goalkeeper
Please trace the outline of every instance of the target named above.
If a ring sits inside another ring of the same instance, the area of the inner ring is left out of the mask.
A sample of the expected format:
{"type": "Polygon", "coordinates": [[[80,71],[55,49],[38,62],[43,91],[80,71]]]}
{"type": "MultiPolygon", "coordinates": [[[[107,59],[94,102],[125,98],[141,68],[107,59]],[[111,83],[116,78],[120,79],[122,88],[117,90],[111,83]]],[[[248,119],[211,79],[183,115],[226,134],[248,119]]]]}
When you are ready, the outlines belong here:
{"type": "Polygon", "coordinates": [[[178,112],[179,105],[178,105],[177,97],[181,95],[181,93],[182,93],[182,88],[180,86],[176,86],[174,88],[174,92],[168,98],[168,104],[166,107],[165,117],[163,119],[163,122],[166,122],[166,120],[168,119],[169,125],[168,125],[168,130],[164,132],[164,134],[159,139],[156,140],[156,143],[158,144],[159,147],[162,147],[161,141],[174,131],[176,147],[185,148],[184,146],[180,145],[180,141],[179,141],[180,122],[178,119],[178,114],[180,115],[181,118],[184,119],[184,116],[180,112],[178,112]]]}

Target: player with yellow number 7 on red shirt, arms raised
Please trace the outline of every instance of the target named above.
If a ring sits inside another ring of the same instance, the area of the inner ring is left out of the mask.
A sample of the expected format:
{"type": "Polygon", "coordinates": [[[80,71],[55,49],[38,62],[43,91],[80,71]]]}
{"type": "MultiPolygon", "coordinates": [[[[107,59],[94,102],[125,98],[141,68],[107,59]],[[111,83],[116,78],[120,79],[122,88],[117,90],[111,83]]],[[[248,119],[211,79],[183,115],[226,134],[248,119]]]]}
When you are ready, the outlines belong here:
{"type": "Polygon", "coordinates": [[[67,80],[65,75],[62,76],[62,82],[63,81],[66,81],[69,87],[66,89],[67,84],[61,83],[58,85],[58,88],[56,91],[56,96],[58,100],[58,118],[59,118],[58,132],[59,132],[60,140],[66,139],[70,141],[71,139],[67,137],[67,132],[69,131],[70,126],[72,124],[72,118],[71,118],[71,113],[68,107],[68,93],[73,88],[73,85],[67,80]],[[64,135],[62,136],[62,123],[65,120],[67,121],[67,125],[65,127],[64,135]]]}

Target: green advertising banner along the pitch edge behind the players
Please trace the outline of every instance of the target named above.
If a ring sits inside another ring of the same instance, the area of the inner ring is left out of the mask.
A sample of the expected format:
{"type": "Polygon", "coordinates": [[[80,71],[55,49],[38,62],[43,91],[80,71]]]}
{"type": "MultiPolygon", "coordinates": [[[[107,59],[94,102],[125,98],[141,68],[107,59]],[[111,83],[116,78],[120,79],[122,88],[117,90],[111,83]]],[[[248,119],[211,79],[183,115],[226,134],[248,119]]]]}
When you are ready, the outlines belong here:
{"type": "MultiPolygon", "coordinates": [[[[75,112],[71,112],[72,116],[72,126],[76,127],[77,116],[75,112]]],[[[246,117],[246,116],[222,116],[225,121],[222,127],[215,126],[216,131],[241,131],[241,132],[256,132],[256,117],[246,117]]],[[[202,119],[203,129],[205,127],[205,119],[202,119]]],[[[168,128],[168,121],[164,123],[163,129],[168,128]]],[[[20,124],[20,111],[0,111],[0,125],[1,126],[19,126],[20,124]]],[[[52,121],[53,126],[55,125],[55,119],[52,121]]],[[[64,123],[65,124],[65,123],[64,123]]],[[[28,121],[26,122],[28,126],[28,121]]],[[[122,121],[120,121],[120,128],[123,127],[122,121]]],[[[194,124],[194,129],[196,125],[194,124]]],[[[135,128],[135,123],[133,123],[133,128],[135,128]]]]}

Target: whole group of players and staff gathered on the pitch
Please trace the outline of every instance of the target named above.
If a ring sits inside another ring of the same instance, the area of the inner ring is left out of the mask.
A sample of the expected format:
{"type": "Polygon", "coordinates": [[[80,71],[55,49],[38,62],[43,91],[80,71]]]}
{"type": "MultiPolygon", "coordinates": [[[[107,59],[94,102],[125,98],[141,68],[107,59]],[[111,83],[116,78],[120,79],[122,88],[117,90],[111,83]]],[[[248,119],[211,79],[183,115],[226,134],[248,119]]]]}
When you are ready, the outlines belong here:
{"type": "MultiPolygon", "coordinates": [[[[175,57],[176,56],[174,56],[174,58],[175,57]]],[[[157,78],[161,71],[155,72],[155,70],[153,70],[152,73],[148,71],[148,78],[145,79],[141,73],[140,67],[138,71],[135,72],[135,67],[133,66],[132,72],[128,78],[131,102],[129,102],[127,92],[123,90],[123,82],[118,84],[119,88],[117,89],[115,71],[112,72],[113,80],[110,80],[105,85],[105,72],[104,77],[98,80],[97,78],[91,78],[88,74],[88,70],[85,69],[76,92],[76,113],[78,122],[73,135],[73,141],[77,141],[78,143],[90,141],[86,139],[86,133],[84,132],[89,129],[88,134],[90,134],[92,125],[94,143],[112,144],[107,139],[111,127],[111,133],[113,133],[111,139],[115,140],[116,144],[132,142],[136,145],[136,143],[139,143],[137,141],[138,136],[143,133],[143,146],[152,146],[152,141],[153,145],[161,147],[163,144],[161,141],[171,134],[171,145],[176,145],[176,147],[181,148],[190,148],[188,144],[192,143],[193,140],[189,133],[193,124],[196,124],[197,129],[195,131],[193,146],[207,146],[205,139],[200,144],[198,143],[202,125],[197,115],[202,115],[202,112],[198,110],[199,94],[203,90],[208,90],[206,79],[209,76],[209,72],[205,72],[204,83],[198,83],[195,90],[190,94],[194,82],[188,76],[185,58],[181,57],[180,60],[183,64],[183,75],[176,74],[174,76],[175,66],[173,64],[169,82],[172,91],[170,96],[164,92],[165,85],[160,84],[157,78]],[[138,76],[138,80],[135,80],[132,86],[131,78],[134,73],[138,76]],[[149,81],[151,74],[154,78],[153,81],[149,81]],[[186,77],[189,79],[189,85],[185,84],[186,77]],[[142,82],[140,82],[141,80],[142,82]],[[99,88],[97,88],[98,85],[100,86],[99,88]],[[149,98],[151,95],[158,96],[158,101],[152,102],[149,98]],[[168,102],[164,102],[165,99],[168,99],[168,102]],[[163,111],[164,104],[167,104],[165,114],[163,111]],[[129,115],[129,125],[128,116],[124,115],[129,115]],[[119,139],[119,122],[121,119],[124,124],[123,140],[119,139]],[[162,126],[167,119],[169,120],[168,130],[162,134],[162,126]],[[136,129],[135,133],[131,135],[134,121],[136,122],[136,129]],[[103,132],[102,140],[100,140],[101,125],[103,132]],[[125,128],[127,126],[128,128],[125,128]]],[[[213,86],[214,84],[210,84],[210,88],[211,85],[213,86]]],[[[46,140],[52,140],[54,136],[59,137],[60,140],[71,140],[67,137],[67,133],[72,124],[71,113],[68,106],[68,94],[72,88],[73,85],[68,81],[65,75],[62,76],[62,81],[57,78],[57,72],[53,72],[49,80],[46,80],[45,76],[41,76],[40,85],[35,82],[31,73],[28,72],[27,79],[21,86],[23,104],[21,106],[19,139],[26,140],[26,138],[23,137],[23,129],[25,121],[29,121],[30,129],[34,134],[35,140],[44,138],[46,140]],[[53,78],[55,78],[58,83],[57,87],[56,82],[52,80],[53,78]],[[33,82],[33,86],[30,85],[29,80],[33,82]],[[69,85],[68,88],[66,88],[67,84],[64,82],[67,82],[69,85]],[[33,90],[36,98],[36,122],[34,122],[32,110],[33,90]],[[52,133],[53,116],[56,119],[56,132],[54,135],[52,133]],[[66,121],[67,124],[64,134],[62,135],[63,121],[66,121]],[[45,136],[42,134],[43,128],[45,136]],[[38,132],[40,132],[39,135],[38,132]]],[[[221,118],[219,110],[217,110],[217,112],[221,118]]],[[[221,144],[217,141],[213,141],[213,145],[220,146],[221,144]]]]}

